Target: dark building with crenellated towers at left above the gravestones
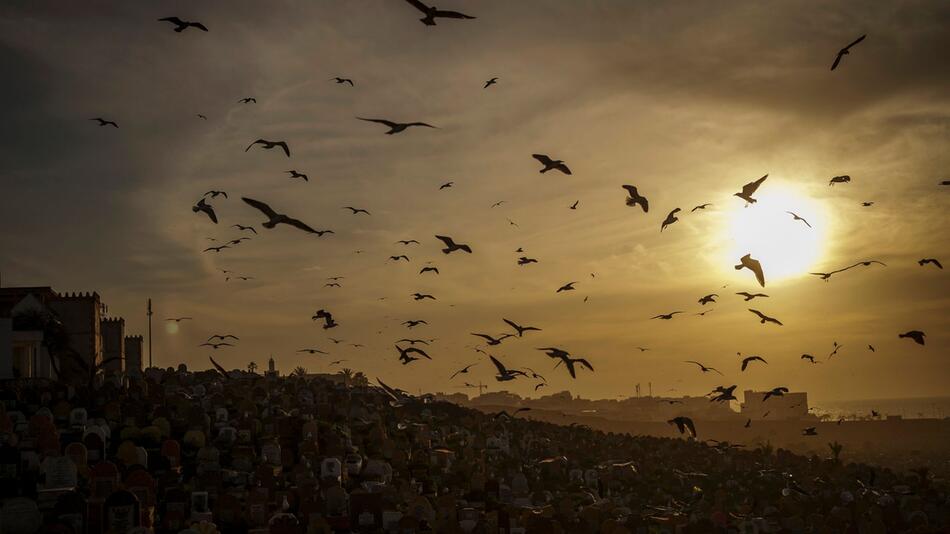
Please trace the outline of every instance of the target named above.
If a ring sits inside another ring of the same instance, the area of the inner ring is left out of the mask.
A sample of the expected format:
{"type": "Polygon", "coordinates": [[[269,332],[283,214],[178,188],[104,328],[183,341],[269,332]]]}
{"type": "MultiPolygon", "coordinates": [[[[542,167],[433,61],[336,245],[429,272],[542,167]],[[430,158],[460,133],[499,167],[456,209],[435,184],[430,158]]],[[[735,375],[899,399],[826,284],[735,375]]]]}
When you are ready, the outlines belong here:
{"type": "MultiPolygon", "coordinates": [[[[50,353],[69,350],[84,366],[96,368],[104,358],[106,372],[125,369],[126,337],[122,318],[102,317],[98,293],[57,293],[48,286],[0,288],[0,379],[59,378],[77,372],[72,358],[60,361],[50,353]]],[[[141,367],[141,341],[138,345],[141,367]]]]}

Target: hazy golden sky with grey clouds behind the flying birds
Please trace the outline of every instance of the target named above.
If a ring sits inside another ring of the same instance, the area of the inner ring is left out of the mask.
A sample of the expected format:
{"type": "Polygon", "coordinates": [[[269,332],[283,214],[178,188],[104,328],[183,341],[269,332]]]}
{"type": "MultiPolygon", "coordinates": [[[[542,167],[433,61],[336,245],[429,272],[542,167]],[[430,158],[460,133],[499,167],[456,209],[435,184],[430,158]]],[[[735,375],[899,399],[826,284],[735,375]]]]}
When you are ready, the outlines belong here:
{"type": "Polygon", "coordinates": [[[207,368],[213,355],[229,369],[264,367],[273,355],[283,372],[348,367],[409,391],[469,394],[466,381],[587,398],[632,395],[638,383],[674,396],[720,384],[818,399],[950,394],[950,278],[917,264],[950,263],[940,185],[950,4],[439,7],[477,18],[425,26],[399,0],[4,4],[3,285],[97,291],[132,333],[144,333],[151,298],[161,366],[207,368]],[[176,33],[157,21],[167,16],[209,31],[176,33]],[[384,135],[356,117],[438,128],[384,135]],[[258,138],[286,140],[291,157],[245,151],[258,138]],[[540,174],[535,153],[573,173],[540,174]],[[732,196],[765,174],[760,202],[732,196]],[[838,175],[850,183],[829,186],[838,175]],[[624,184],[648,213],[625,205],[624,184]],[[209,190],[229,195],[209,200],[219,224],[191,209],[209,190]],[[334,233],[264,229],[242,196],[334,233]],[[679,220],[661,232],[674,208],[679,220]],[[473,253],[441,253],[436,234],[473,253]],[[202,252],[242,235],[253,239],[202,252]],[[519,266],[518,248],[538,263],[519,266]],[[733,268],[745,253],[762,261],[765,288],[733,268]],[[400,254],[410,261],[388,260],[400,254]],[[886,267],[808,274],[869,259],[886,267]],[[440,274],[419,274],[427,265],[440,274]],[[253,279],[225,281],[221,269],[253,279]],[[342,287],[325,287],[334,276],[342,287]],[[574,291],[555,292],[571,281],[574,291]],[[746,303],[737,291],[769,297],[746,303]],[[710,293],[718,302],[697,302],[710,293]],[[783,326],[760,324],[750,307],[783,326]],[[339,326],[312,321],[318,309],[339,326]],[[672,311],[684,313],[651,319],[672,311]],[[172,332],[164,319],[176,316],[194,320],[172,332]],[[495,347],[471,335],[510,331],[502,318],[542,331],[495,347]],[[429,325],[408,330],[409,319],[429,325]],[[926,345],[897,337],[908,330],[926,332],[926,345]],[[218,333],[241,339],[198,346],[218,333]],[[404,337],[435,339],[432,361],[401,365],[404,337]],[[834,342],[843,348],[828,359],[834,342]],[[546,346],[595,371],[572,379],[535,350],[546,346]],[[296,352],[308,347],[330,356],[296,352]],[[476,347],[548,386],[497,382],[476,347]],[[737,353],[768,363],[741,372],[737,353]]]}

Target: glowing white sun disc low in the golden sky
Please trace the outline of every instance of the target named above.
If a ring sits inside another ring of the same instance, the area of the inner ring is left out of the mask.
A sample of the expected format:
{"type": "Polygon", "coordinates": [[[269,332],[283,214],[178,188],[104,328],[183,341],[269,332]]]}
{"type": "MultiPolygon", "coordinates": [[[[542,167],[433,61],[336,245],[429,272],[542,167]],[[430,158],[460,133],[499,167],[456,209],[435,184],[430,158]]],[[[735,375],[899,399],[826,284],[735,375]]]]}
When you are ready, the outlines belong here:
{"type": "Polygon", "coordinates": [[[755,198],[758,202],[748,207],[736,199],[729,213],[726,261],[737,264],[740,257],[752,254],[762,263],[766,284],[806,274],[824,252],[827,218],[821,204],[774,183],[766,184],[755,198]]]}

